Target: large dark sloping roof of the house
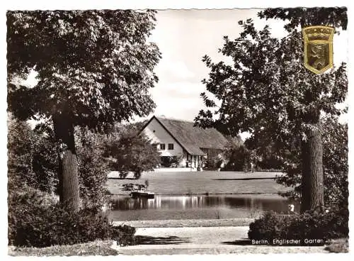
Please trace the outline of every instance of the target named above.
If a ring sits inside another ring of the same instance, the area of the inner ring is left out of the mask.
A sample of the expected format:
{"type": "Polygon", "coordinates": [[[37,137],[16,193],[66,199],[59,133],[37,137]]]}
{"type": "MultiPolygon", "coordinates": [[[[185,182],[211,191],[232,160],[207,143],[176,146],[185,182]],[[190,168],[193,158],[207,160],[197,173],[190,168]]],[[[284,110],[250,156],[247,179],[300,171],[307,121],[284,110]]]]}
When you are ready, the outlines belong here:
{"type": "Polygon", "coordinates": [[[190,121],[156,116],[153,118],[156,118],[190,155],[205,155],[200,148],[223,150],[227,145],[227,139],[215,128],[198,128],[190,121]]]}

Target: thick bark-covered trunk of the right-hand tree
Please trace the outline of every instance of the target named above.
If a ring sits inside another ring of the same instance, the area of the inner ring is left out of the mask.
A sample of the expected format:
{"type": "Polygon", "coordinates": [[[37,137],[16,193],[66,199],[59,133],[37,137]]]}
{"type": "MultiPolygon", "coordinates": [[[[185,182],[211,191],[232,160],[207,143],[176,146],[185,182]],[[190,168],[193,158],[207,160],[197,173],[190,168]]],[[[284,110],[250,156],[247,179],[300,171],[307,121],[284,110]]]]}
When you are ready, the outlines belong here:
{"type": "Polygon", "coordinates": [[[324,208],[324,171],[321,124],[317,122],[307,130],[302,143],[302,203],[301,211],[324,208]]]}

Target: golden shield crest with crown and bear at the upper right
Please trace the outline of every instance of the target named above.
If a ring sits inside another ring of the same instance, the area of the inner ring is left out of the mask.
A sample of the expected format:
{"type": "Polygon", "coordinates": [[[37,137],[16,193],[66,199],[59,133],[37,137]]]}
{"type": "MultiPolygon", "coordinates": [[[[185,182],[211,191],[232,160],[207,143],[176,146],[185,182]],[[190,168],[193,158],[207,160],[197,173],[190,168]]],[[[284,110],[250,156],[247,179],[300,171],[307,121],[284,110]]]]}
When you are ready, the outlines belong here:
{"type": "Polygon", "coordinates": [[[329,26],[309,26],[302,29],[304,36],[304,65],[315,74],[333,67],[333,34],[329,26]]]}

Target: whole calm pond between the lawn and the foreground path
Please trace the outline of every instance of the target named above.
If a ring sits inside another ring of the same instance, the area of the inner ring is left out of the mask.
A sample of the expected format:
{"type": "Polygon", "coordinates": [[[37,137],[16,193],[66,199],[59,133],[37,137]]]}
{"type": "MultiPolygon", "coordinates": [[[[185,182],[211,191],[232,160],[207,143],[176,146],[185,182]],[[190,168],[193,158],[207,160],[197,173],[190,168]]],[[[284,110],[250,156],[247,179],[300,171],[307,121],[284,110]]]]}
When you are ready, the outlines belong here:
{"type": "MultiPolygon", "coordinates": [[[[287,213],[289,201],[276,194],[162,196],[132,199],[114,196],[113,221],[162,219],[256,218],[263,211],[287,213]]],[[[295,205],[295,211],[298,206],[295,205]]]]}

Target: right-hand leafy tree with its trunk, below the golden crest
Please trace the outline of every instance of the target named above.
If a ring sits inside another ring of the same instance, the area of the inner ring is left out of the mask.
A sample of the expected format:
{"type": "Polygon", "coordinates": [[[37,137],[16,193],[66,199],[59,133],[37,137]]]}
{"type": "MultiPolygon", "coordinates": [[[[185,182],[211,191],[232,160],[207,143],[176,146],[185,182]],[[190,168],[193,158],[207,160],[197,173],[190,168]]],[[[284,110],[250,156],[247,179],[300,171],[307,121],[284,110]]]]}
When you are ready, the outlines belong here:
{"type": "MultiPolygon", "coordinates": [[[[338,10],[338,17],[346,16],[338,10]]],[[[346,65],[342,63],[320,75],[305,69],[298,24],[292,30],[287,28],[289,33],[282,39],[273,38],[268,26],[256,30],[251,19],[239,24],[244,29],[240,37],[229,40],[225,36],[220,50],[232,58],[232,65],[214,63],[207,55],[203,57],[210,68],[209,79],[203,83],[222,102],[214,112],[217,117],[210,109],[202,110],[195,123],[202,127],[219,126],[219,130],[229,135],[249,131],[251,138],[270,138],[283,157],[300,153],[302,211],[322,208],[321,113],[341,113],[336,104],[346,98],[346,65]]],[[[207,94],[201,96],[207,107],[216,106],[207,94]]]]}

